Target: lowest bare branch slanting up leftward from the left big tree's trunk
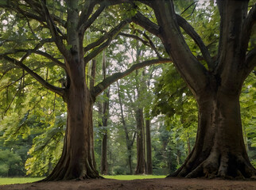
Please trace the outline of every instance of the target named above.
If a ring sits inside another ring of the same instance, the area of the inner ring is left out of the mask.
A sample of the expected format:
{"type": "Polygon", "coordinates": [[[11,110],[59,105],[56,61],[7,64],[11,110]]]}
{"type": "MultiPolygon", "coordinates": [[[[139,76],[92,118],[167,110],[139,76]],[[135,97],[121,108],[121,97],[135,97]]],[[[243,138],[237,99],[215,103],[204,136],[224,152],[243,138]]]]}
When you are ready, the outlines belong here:
{"type": "Polygon", "coordinates": [[[5,55],[3,57],[7,61],[14,63],[14,65],[17,65],[18,67],[21,67],[21,69],[25,70],[27,73],[29,73],[33,78],[37,80],[37,82],[40,82],[42,86],[44,86],[46,89],[52,90],[52,92],[59,94],[61,97],[64,97],[64,89],[61,89],[56,86],[52,86],[48,82],[44,80],[44,78],[41,78],[37,73],[35,73],[33,70],[29,69],[29,67],[26,67],[23,63],[17,61],[16,59],[10,58],[9,56],[5,55]]]}

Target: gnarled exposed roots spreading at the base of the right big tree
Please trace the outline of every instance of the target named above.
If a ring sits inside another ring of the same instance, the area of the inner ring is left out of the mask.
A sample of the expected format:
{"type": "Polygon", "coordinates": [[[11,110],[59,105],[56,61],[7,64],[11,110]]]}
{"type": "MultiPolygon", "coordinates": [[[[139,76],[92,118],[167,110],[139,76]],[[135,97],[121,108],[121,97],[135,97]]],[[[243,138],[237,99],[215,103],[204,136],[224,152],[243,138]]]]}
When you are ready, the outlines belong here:
{"type": "MultiPolygon", "coordinates": [[[[198,158],[200,159],[200,158],[198,158]]],[[[184,165],[169,177],[205,177],[243,180],[256,175],[256,169],[242,155],[211,152],[208,158],[196,165],[196,160],[187,159],[184,165]]]]}

